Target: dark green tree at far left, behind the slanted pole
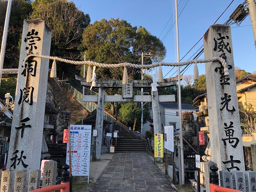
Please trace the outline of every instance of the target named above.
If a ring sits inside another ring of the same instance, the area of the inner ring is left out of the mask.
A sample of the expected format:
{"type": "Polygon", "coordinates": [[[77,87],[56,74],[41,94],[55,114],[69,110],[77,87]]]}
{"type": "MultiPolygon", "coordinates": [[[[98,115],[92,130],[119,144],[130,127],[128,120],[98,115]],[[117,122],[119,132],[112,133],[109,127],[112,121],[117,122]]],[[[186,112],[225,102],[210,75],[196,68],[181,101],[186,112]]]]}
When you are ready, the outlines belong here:
{"type": "MultiPolygon", "coordinates": [[[[2,42],[7,2],[7,0],[0,0],[0,42],[2,42]]],[[[4,68],[18,68],[20,58],[19,42],[22,36],[23,21],[28,18],[31,11],[30,0],[13,0],[4,56],[4,68]]]]}

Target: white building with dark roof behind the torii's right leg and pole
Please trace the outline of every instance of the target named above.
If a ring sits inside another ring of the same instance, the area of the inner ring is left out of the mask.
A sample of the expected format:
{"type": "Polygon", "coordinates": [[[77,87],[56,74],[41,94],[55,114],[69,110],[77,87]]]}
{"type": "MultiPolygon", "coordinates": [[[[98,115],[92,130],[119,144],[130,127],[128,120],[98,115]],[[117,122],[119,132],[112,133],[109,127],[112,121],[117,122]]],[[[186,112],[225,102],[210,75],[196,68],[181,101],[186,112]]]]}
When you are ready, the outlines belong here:
{"type": "MultiPolygon", "coordinates": [[[[182,112],[184,111],[193,111],[196,112],[196,109],[192,108],[188,104],[181,104],[182,112]]],[[[176,130],[180,128],[180,118],[179,118],[179,109],[177,103],[159,103],[160,108],[160,118],[161,118],[161,128],[162,133],[164,133],[164,126],[174,126],[176,130]]],[[[196,115],[193,113],[196,120],[196,115]]]]}

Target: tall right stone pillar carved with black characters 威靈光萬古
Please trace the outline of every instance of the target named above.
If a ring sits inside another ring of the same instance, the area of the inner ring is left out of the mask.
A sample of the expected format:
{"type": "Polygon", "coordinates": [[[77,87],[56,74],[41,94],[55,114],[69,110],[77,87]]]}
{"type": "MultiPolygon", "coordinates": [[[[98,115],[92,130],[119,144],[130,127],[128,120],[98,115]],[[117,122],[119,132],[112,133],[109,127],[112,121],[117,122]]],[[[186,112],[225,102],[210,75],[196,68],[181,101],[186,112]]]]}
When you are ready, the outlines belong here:
{"type": "Polygon", "coordinates": [[[244,171],[231,30],[215,24],[204,34],[204,57],[220,56],[229,75],[219,62],[205,64],[212,161],[219,170],[244,171]]]}

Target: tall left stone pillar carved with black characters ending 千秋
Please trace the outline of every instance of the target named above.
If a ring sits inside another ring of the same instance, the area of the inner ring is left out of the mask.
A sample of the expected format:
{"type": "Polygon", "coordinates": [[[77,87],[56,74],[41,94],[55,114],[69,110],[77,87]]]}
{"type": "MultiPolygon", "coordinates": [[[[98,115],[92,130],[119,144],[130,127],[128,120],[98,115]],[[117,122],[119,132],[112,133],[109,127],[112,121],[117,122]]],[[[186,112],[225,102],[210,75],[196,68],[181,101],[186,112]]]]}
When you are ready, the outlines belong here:
{"type": "Polygon", "coordinates": [[[32,57],[25,65],[23,60],[30,53],[49,55],[51,34],[41,19],[24,21],[7,165],[10,170],[40,168],[49,60],[32,57]]]}

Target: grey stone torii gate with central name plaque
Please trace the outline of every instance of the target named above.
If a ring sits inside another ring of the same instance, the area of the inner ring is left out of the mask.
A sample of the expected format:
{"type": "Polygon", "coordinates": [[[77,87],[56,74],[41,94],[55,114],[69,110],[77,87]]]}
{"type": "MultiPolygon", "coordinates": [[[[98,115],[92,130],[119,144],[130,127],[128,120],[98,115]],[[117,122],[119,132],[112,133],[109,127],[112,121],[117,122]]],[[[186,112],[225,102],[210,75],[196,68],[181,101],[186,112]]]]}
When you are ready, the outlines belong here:
{"type": "MultiPolygon", "coordinates": [[[[90,87],[92,83],[86,82],[86,78],[76,76],[83,86],[90,87]]],[[[164,79],[158,87],[170,87],[176,85],[177,78],[164,79]]],[[[99,89],[98,95],[83,95],[83,102],[97,102],[97,115],[95,128],[98,129],[96,137],[96,160],[100,160],[102,126],[104,120],[104,102],[152,102],[154,132],[161,133],[161,120],[159,102],[175,101],[174,95],[158,95],[158,91],[152,91],[151,95],[133,95],[133,88],[149,88],[151,80],[128,80],[127,84],[122,84],[122,80],[96,80],[95,88],[99,89]],[[105,95],[106,88],[122,88],[122,95],[105,95]]]]}

